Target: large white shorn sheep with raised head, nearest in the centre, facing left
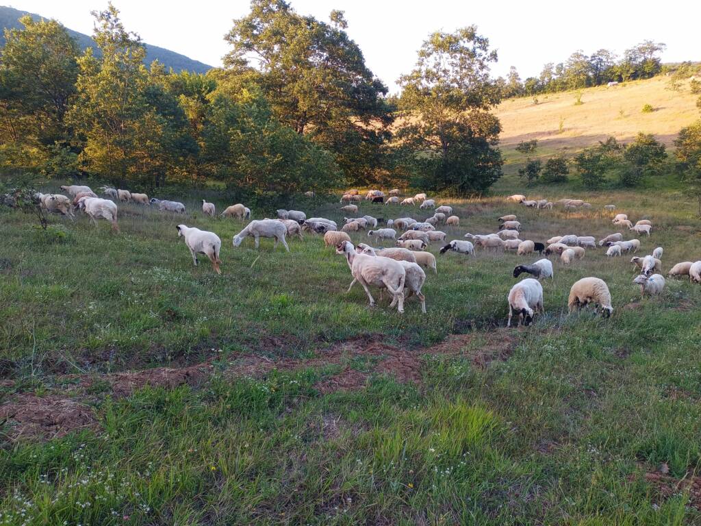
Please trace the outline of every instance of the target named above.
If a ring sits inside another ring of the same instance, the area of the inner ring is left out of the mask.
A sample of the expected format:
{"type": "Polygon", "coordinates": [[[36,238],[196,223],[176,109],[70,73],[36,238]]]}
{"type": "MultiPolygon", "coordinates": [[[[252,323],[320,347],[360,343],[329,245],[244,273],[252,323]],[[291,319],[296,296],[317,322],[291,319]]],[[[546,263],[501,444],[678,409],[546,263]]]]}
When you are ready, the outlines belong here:
{"type": "Polygon", "coordinates": [[[359,281],[367,294],[370,306],[374,306],[375,300],[370,294],[368,285],[376,285],[386,288],[393,296],[393,302],[394,299],[397,300],[397,311],[404,312],[404,281],[406,281],[407,272],[400,262],[388,257],[358,254],[350,241],[343,241],[336,245],[336,254],[346,256],[353,276],[351,287],[355,281],[359,281]]]}

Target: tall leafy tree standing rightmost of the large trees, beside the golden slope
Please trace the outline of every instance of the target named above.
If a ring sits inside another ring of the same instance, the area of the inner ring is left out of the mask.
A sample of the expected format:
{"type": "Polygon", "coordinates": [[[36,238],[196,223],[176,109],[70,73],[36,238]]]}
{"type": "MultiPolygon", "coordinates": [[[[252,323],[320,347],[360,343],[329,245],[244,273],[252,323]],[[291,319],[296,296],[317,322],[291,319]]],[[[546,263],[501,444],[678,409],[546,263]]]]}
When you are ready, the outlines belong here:
{"type": "Polygon", "coordinates": [[[397,140],[412,151],[426,189],[474,194],[501,177],[501,125],[490,112],[501,100],[489,76],[496,60],[477,27],[463,27],[430,34],[416,67],[400,77],[397,140]]]}

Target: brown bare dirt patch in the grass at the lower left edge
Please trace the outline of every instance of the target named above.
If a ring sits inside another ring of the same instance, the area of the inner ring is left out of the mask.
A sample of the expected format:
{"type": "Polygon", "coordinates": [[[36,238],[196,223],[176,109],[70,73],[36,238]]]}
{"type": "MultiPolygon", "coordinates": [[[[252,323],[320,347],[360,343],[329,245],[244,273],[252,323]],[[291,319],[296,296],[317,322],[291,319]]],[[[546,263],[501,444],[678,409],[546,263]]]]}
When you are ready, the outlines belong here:
{"type": "Polygon", "coordinates": [[[0,422],[10,424],[13,439],[22,436],[55,438],[72,431],[95,428],[97,421],[90,407],[72,398],[24,393],[0,405],[0,422]]]}

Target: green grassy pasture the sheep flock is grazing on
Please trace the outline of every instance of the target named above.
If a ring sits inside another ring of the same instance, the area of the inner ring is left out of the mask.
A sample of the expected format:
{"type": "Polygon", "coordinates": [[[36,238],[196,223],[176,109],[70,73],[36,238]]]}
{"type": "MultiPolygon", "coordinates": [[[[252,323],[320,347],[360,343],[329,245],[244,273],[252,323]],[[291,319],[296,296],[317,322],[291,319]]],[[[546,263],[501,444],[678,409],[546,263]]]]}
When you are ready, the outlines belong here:
{"type": "MultiPolygon", "coordinates": [[[[639,255],[664,247],[665,274],[699,259],[691,198],[583,197],[584,215],[455,201],[446,231],[516,213],[522,238],[599,238],[615,203],[653,220],[639,255]]],[[[198,198],[185,217],[121,205],[121,234],[85,217],[46,234],[0,208],[0,525],[701,522],[698,285],[641,300],[629,257],[588,250],[554,263],[545,316],[508,330],[512,269],[538,257],[449,252],[428,314],[409,299],[398,315],[346,295],[320,236],[233,248],[243,223],[198,198]],[[180,222],[219,234],[222,276],[193,267],[180,222]],[[607,281],[610,320],[567,315],[583,276],[607,281]]],[[[331,199],[295,208],[341,220],[331,199]]]]}

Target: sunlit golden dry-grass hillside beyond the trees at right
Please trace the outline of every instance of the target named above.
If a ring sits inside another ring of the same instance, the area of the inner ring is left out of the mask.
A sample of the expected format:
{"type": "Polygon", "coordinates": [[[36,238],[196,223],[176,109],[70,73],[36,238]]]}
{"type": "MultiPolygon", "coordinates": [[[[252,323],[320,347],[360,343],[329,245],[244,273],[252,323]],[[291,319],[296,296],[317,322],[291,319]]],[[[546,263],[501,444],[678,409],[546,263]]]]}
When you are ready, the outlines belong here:
{"type": "Polygon", "coordinates": [[[665,76],[634,81],[607,88],[582,91],[583,104],[575,105],[575,93],[539,95],[505,100],[496,112],[501,120],[501,148],[508,165],[522,156],[514,150],[522,140],[538,140],[538,154],[574,153],[613,135],[618,140],[632,139],[638,132],[653,133],[658,140],[671,145],[679,129],[699,118],[688,81],[681,91],[667,89],[665,76]],[[655,109],[641,111],[645,104],[655,109]],[[563,120],[563,131],[559,124],[563,120]]]}

